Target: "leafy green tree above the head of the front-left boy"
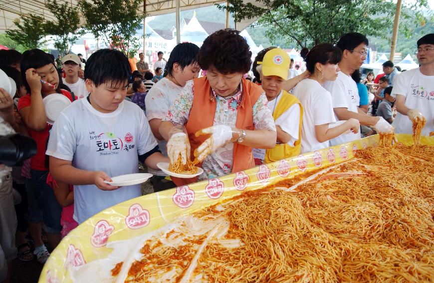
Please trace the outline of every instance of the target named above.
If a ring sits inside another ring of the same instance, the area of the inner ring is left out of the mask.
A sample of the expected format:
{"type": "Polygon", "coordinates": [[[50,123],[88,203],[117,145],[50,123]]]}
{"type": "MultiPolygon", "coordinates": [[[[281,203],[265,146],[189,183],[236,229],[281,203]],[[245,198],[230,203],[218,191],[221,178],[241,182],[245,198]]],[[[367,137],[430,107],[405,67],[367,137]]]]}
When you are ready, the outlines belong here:
{"type": "Polygon", "coordinates": [[[142,28],[144,14],[137,11],[142,0],[80,0],[78,5],[86,18],[85,28],[116,48],[133,57],[141,46],[137,30],[142,28]]]}

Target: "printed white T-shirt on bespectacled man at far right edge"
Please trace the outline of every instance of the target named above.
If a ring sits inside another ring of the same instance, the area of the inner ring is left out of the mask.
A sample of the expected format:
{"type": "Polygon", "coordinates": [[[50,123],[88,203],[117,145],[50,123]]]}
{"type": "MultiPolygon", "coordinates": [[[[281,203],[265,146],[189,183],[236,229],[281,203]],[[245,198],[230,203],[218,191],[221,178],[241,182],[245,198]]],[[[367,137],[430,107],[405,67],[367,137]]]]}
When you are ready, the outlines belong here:
{"type": "MultiPolygon", "coordinates": [[[[402,94],[406,97],[405,105],[418,109],[427,119],[422,135],[428,136],[434,131],[434,76],[426,76],[420,68],[397,74],[394,79],[392,96],[402,94]]],[[[398,113],[392,123],[396,133],[413,133],[413,124],[409,117],[398,113]]]]}

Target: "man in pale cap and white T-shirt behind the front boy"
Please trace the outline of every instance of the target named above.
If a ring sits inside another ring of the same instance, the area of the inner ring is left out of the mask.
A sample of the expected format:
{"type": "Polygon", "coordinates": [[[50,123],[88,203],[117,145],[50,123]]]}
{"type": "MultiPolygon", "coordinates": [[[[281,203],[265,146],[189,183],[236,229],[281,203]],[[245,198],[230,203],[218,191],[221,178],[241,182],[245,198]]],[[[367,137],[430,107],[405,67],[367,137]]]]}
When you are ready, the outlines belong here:
{"type": "Polygon", "coordinates": [[[67,54],[62,58],[63,70],[66,77],[63,83],[78,97],[78,99],[87,97],[89,92],[86,89],[84,79],[78,77],[80,70],[80,58],[75,54],[67,54]]]}

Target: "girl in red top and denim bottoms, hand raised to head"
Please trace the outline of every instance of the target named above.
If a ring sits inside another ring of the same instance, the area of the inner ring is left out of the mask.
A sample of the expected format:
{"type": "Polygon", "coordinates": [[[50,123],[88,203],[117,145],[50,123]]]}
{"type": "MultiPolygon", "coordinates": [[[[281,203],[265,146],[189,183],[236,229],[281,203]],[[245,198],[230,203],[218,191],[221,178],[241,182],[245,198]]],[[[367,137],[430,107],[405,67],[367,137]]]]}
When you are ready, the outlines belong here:
{"type": "Polygon", "coordinates": [[[22,54],[21,78],[27,94],[18,100],[18,111],[30,137],[36,140],[37,153],[30,161],[31,179],[26,184],[29,202],[29,231],[35,244],[34,254],[40,263],[45,263],[49,253],[41,239],[43,224],[51,248],[61,240],[61,206],[53,190],[46,183],[48,167],[45,165],[46,141],[51,126],[47,124],[42,99],[53,93],[61,93],[72,101],[71,93],[59,88],[59,76],[54,61],[42,50],[31,49],[22,54]],[[44,80],[52,85],[41,83],[44,80]]]}

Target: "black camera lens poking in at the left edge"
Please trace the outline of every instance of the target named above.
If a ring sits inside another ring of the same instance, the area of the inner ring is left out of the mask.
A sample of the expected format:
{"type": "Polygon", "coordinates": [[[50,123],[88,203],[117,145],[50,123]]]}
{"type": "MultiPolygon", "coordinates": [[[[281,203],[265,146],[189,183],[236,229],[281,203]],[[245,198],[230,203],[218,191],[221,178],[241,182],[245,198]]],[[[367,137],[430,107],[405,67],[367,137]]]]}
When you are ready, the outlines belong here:
{"type": "Polygon", "coordinates": [[[0,136],[0,164],[21,166],[37,152],[36,141],[21,134],[0,136]]]}

